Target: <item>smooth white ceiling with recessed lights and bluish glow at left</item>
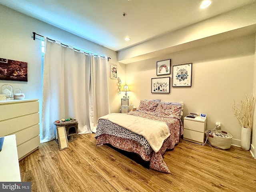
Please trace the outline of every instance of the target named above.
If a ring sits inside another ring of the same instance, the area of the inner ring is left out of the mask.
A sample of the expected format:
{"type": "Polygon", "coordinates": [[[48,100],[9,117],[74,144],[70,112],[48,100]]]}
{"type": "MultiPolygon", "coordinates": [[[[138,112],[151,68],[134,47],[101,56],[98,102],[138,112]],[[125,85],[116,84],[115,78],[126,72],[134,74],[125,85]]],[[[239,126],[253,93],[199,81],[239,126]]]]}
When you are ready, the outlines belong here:
{"type": "Polygon", "coordinates": [[[0,4],[118,51],[256,0],[1,0],[0,4]],[[123,16],[126,13],[126,16],[123,16]],[[126,42],[124,38],[131,40],[126,42]]]}

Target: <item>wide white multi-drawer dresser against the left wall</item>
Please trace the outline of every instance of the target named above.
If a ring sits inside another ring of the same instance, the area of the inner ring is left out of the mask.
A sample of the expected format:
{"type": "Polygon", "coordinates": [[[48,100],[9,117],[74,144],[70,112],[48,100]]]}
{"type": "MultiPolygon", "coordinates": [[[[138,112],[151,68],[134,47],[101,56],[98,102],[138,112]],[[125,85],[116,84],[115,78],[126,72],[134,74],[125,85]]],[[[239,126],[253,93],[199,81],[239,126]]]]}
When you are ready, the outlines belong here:
{"type": "Polygon", "coordinates": [[[19,160],[38,149],[38,99],[0,101],[0,137],[12,134],[16,135],[19,160]]]}

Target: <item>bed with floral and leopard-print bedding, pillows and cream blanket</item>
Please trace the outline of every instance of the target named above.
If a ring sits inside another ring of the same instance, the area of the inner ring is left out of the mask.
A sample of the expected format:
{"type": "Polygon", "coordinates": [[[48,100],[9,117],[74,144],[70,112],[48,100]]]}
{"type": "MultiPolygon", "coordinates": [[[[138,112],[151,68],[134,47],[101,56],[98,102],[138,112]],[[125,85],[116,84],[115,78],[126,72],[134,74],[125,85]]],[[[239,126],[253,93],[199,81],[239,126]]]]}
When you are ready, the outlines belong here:
{"type": "Polygon", "coordinates": [[[182,110],[182,102],[141,100],[133,112],[99,118],[96,145],[110,144],[134,152],[149,162],[150,168],[170,173],[163,154],[173,149],[183,135],[182,110]]]}

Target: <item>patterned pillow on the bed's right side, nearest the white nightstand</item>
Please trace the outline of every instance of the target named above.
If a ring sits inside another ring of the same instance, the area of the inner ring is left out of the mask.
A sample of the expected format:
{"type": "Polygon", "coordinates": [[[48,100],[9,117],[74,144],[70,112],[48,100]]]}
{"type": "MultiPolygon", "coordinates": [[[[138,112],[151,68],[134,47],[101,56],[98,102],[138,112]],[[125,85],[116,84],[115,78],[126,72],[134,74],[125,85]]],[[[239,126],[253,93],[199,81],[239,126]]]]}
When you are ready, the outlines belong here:
{"type": "Polygon", "coordinates": [[[176,115],[180,116],[182,106],[170,105],[160,102],[155,110],[156,113],[164,115],[176,115]]]}

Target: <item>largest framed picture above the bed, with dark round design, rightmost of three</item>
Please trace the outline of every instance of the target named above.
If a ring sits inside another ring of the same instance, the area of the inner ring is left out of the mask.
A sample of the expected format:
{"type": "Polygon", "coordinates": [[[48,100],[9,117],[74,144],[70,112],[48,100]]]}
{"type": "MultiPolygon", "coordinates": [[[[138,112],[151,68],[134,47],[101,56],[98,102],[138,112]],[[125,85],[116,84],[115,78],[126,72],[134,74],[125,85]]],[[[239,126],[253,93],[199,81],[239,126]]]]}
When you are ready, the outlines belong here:
{"type": "Polygon", "coordinates": [[[192,83],[192,63],[172,66],[172,86],[190,87],[192,83]]]}

